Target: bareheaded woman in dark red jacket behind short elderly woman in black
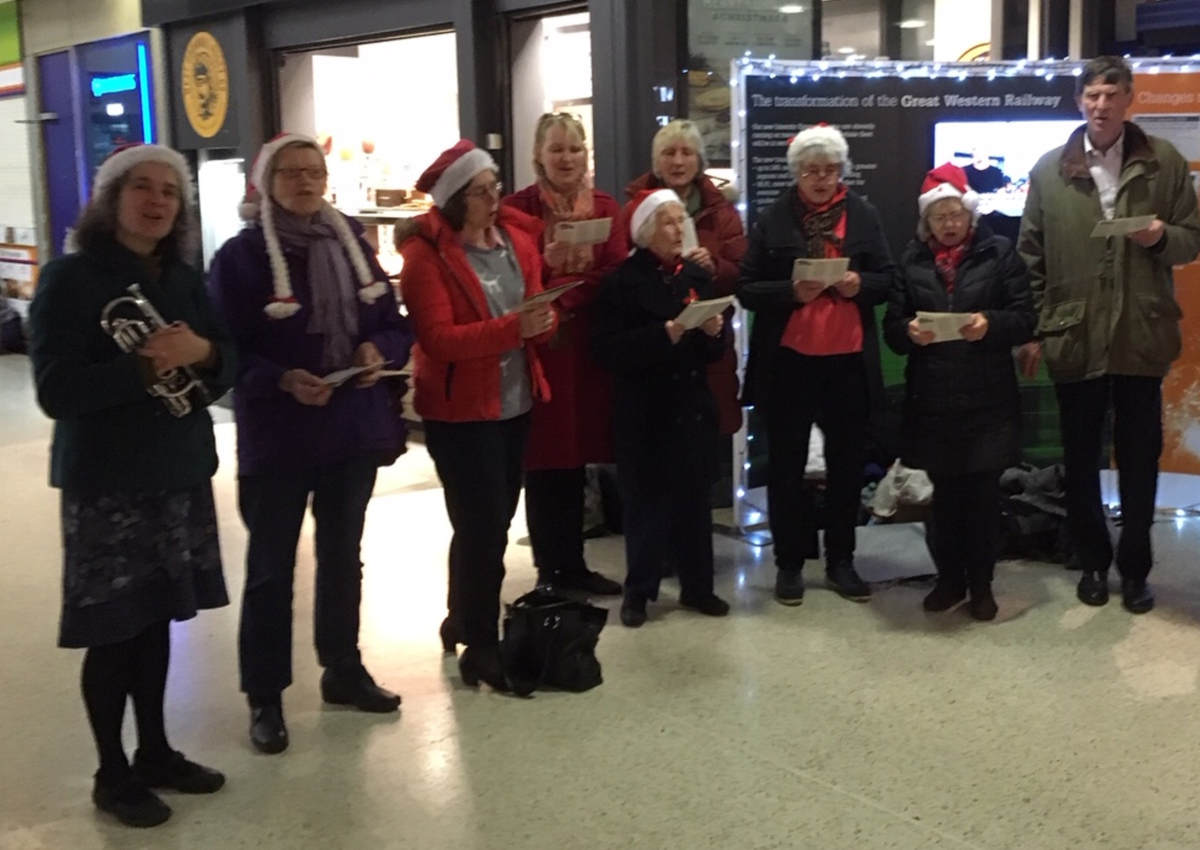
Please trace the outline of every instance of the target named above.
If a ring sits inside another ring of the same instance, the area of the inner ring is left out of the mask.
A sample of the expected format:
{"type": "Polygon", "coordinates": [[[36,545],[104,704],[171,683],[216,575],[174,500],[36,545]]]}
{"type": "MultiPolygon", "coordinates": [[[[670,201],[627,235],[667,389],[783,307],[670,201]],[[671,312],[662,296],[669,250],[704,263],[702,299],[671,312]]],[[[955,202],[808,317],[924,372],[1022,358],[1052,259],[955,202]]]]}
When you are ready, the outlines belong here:
{"type": "MultiPolygon", "coordinates": [[[[732,295],[738,283],[746,234],[737,209],[704,174],[704,146],[691,121],[676,119],[654,134],[649,172],[625,187],[630,199],[648,188],[673,188],[696,223],[700,249],[688,256],[713,276],[713,297],[732,295]]],[[[626,211],[629,205],[626,205],[626,211]]],[[[731,307],[726,321],[733,315],[731,307]]],[[[721,359],[708,365],[708,387],[716,399],[718,430],[722,437],[742,427],[738,401],[738,363],[733,336],[727,335],[721,359]]]]}

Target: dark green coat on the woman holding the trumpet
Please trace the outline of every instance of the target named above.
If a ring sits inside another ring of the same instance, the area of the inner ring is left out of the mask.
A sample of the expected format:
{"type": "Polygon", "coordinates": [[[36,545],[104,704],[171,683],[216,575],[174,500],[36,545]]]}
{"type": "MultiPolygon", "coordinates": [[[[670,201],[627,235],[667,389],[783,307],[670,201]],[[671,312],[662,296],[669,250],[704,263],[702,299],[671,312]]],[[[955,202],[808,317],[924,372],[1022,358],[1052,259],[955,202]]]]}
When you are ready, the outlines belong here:
{"type": "Polygon", "coordinates": [[[138,283],[167,322],[184,321],[218,351],[200,373],[211,399],[233,384],[234,346],[209,306],[200,273],[167,262],[157,280],[134,253],[110,243],[42,269],[30,307],[30,357],[37,403],[54,419],[50,485],[84,492],[180,490],[217,468],[212,419],[193,391],[175,418],[151,396],[137,354],[125,354],[100,327],[104,305],[138,283]]]}

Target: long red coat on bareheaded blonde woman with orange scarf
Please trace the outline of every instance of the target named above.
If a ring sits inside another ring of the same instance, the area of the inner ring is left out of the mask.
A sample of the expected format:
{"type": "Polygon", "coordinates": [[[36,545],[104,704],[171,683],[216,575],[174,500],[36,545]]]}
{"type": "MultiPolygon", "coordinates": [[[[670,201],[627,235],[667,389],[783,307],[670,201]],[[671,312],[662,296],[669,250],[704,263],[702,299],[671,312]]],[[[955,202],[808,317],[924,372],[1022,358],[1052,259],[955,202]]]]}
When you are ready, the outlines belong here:
{"type": "MultiPolygon", "coordinates": [[[[539,221],[546,212],[536,184],[500,203],[539,221]]],[[[548,343],[538,346],[554,397],[547,405],[534,405],[524,459],[527,469],[575,469],[613,460],[612,376],[592,357],[592,301],[604,279],[629,256],[629,243],[616,198],[598,191],[594,206],[596,219],[612,219],[612,232],[607,241],[592,250],[592,267],[559,277],[548,268],[542,269],[542,283],[547,288],[576,280],[584,285],[554,303],[559,311],[558,334],[548,343]]],[[[545,237],[538,244],[545,249],[545,237]]]]}

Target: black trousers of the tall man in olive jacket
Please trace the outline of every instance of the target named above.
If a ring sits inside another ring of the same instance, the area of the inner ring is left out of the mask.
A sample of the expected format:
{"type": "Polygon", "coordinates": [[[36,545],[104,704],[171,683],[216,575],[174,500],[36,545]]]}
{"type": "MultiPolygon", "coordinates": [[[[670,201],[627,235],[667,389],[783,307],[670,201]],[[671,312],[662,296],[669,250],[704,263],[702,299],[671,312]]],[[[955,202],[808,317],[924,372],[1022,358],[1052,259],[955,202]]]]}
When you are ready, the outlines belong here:
{"type": "Polygon", "coordinates": [[[1158,457],[1163,453],[1163,381],[1105,375],[1092,381],[1055,384],[1067,467],[1067,525],[1085,570],[1108,570],[1112,562],[1100,504],[1102,431],[1111,403],[1112,435],[1121,490],[1121,540],[1117,569],[1123,579],[1145,580],[1152,553],[1150,527],[1158,493],[1158,457]]]}

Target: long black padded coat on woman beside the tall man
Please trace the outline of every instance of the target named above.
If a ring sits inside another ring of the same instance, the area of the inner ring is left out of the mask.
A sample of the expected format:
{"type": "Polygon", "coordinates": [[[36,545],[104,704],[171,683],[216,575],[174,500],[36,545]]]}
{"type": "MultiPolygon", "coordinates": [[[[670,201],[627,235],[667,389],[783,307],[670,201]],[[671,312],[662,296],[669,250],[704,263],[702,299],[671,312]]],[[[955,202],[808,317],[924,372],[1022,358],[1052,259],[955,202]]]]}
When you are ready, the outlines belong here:
{"type": "Polygon", "coordinates": [[[1003,237],[980,225],[959,267],[954,292],[934,265],[929,245],[913,240],[896,269],[883,337],[907,354],[901,459],[940,474],[1002,469],[1018,461],[1020,395],[1013,347],[1027,342],[1037,316],[1030,273],[1003,237]],[[917,311],[988,317],[988,334],[917,346],[908,322],[917,311]]]}

